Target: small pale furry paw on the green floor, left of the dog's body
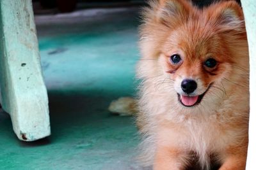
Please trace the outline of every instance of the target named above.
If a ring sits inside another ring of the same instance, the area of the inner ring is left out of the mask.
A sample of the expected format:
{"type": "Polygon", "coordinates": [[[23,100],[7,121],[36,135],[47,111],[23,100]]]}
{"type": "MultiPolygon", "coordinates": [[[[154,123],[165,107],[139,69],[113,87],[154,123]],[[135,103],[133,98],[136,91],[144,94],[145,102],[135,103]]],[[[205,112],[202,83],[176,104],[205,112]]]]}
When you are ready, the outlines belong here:
{"type": "Polygon", "coordinates": [[[120,116],[131,116],[136,113],[135,104],[132,97],[120,97],[110,103],[108,110],[120,116]]]}

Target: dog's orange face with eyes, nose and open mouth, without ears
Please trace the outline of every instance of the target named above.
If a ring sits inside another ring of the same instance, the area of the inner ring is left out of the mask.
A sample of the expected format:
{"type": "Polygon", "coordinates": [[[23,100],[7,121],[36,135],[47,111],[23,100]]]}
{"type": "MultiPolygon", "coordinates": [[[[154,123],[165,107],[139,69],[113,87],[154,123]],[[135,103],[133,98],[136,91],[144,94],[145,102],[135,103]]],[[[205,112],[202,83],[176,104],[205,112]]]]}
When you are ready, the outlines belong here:
{"type": "Polygon", "coordinates": [[[184,106],[199,104],[214,82],[219,83],[230,71],[231,54],[221,43],[221,36],[209,35],[211,31],[207,23],[184,24],[163,45],[161,65],[184,106]]]}

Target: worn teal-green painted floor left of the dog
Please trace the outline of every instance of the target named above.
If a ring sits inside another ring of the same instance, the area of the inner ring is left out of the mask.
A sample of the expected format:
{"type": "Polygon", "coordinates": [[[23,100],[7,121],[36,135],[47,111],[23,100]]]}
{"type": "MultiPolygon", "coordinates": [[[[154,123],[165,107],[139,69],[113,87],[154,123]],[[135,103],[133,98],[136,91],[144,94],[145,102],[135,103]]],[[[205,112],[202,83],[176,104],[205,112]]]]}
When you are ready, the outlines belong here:
{"type": "Polygon", "coordinates": [[[138,8],[36,17],[52,135],[19,141],[0,113],[0,169],[141,169],[132,117],[108,112],[135,94],[138,8]]]}

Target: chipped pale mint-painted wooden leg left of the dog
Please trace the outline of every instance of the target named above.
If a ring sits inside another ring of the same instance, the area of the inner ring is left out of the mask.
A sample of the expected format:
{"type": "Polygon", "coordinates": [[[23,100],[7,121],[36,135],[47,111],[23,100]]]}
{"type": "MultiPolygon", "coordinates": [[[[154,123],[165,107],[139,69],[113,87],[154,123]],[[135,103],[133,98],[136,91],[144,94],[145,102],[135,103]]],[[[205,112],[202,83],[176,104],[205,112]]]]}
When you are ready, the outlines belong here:
{"type": "MultiPolygon", "coordinates": [[[[31,0],[0,0],[1,104],[23,141],[50,135],[31,0]]],[[[1,129],[0,129],[1,131],[1,129]]]]}

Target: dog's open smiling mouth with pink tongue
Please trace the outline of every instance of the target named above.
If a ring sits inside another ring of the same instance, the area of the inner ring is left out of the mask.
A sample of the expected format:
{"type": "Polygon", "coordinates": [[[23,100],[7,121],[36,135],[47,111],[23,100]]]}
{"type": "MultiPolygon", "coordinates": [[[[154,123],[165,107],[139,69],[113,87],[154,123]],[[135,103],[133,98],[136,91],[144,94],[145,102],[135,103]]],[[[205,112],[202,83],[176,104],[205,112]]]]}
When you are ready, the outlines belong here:
{"type": "Polygon", "coordinates": [[[178,100],[180,103],[186,107],[191,107],[199,104],[203,97],[205,96],[206,92],[210,89],[212,83],[209,85],[209,87],[205,90],[205,92],[198,96],[184,96],[181,94],[178,94],[178,100]]]}

